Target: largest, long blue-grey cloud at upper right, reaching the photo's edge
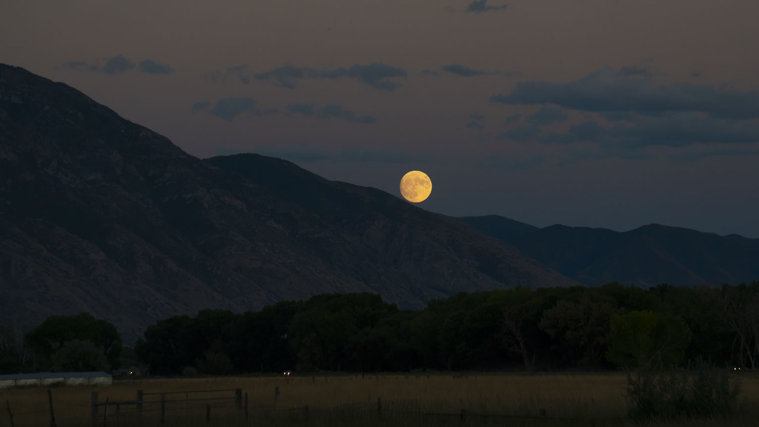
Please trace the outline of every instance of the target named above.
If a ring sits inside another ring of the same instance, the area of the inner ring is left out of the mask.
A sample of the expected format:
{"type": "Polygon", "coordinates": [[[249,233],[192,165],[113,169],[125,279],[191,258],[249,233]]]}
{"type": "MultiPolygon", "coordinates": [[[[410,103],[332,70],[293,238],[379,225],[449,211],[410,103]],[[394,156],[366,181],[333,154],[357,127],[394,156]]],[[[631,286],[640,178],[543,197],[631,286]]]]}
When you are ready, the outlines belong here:
{"type": "Polygon", "coordinates": [[[759,91],[738,92],[676,83],[654,86],[650,78],[619,76],[603,68],[567,83],[517,83],[511,93],[490,97],[505,105],[555,104],[581,111],[629,111],[638,115],[703,112],[716,118],[759,118],[759,91]]]}

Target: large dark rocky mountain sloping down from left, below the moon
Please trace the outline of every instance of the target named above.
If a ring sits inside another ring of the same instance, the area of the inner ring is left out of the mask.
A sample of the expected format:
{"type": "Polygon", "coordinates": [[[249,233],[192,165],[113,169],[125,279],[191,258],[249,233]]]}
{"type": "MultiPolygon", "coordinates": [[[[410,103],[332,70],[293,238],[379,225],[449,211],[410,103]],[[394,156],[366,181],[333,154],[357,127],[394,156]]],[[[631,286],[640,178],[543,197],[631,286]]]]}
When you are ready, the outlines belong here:
{"type": "Polygon", "coordinates": [[[130,342],[204,308],[354,291],[419,308],[517,284],[576,282],[374,188],[261,155],[197,159],[0,64],[0,324],[89,311],[130,342]]]}

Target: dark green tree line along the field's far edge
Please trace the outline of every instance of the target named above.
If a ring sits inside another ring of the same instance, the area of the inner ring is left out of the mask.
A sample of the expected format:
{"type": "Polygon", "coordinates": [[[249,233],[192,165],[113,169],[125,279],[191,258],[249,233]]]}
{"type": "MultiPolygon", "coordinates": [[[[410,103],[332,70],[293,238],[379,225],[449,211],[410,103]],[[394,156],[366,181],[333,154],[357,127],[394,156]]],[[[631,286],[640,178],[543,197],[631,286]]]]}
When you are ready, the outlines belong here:
{"type": "MultiPolygon", "coordinates": [[[[8,338],[11,337],[11,338],[8,338]]],[[[14,342],[0,372],[114,369],[121,338],[87,313],[51,316],[14,342]]],[[[172,316],[134,346],[153,375],[245,372],[657,369],[707,360],[754,368],[759,282],[643,289],[544,287],[460,293],[401,310],[377,294],[322,294],[257,312],[172,316]]]]}

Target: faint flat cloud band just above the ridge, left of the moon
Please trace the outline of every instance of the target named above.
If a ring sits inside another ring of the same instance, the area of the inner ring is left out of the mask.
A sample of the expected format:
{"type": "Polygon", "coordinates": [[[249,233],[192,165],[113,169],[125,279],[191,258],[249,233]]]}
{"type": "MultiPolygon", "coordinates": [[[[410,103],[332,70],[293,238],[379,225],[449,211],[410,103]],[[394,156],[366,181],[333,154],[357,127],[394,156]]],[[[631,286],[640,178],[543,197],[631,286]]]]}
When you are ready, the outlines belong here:
{"type": "MultiPolygon", "coordinates": [[[[236,154],[239,151],[225,150],[226,154],[236,154]]],[[[219,149],[217,149],[219,152],[219,149]]],[[[339,150],[328,150],[310,144],[299,146],[263,146],[255,149],[262,155],[270,155],[291,162],[341,162],[341,163],[395,163],[407,164],[430,160],[429,156],[414,155],[399,149],[375,149],[364,147],[348,147],[339,150]]],[[[221,153],[219,153],[221,154],[221,153]]]]}

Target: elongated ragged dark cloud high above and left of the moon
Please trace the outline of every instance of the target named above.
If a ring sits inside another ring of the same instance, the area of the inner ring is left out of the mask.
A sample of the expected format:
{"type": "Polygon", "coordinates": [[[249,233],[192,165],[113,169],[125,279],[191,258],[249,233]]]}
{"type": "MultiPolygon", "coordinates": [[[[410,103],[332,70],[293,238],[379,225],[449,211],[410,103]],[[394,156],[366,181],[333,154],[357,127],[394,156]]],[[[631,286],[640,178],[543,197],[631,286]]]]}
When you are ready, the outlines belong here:
{"type": "Polygon", "coordinates": [[[406,71],[402,68],[396,68],[392,65],[381,64],[378,62],[372,64],[355,64],[351,68],[335,68],[333,70],[317,71],[310,67],[295,67],[293,65],[284,65],[275,68],[266,73],[254,74],[259,80],[277,80],[279,86],[293,89],[295,87],[294,79],[337,79],[339,77],[353,78],[372,86],[374,89],[392,91],[397,83],[392,82],[390,78],[406,77],[406,71]]]}

